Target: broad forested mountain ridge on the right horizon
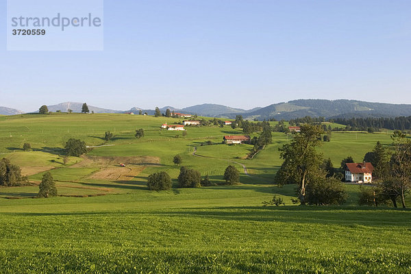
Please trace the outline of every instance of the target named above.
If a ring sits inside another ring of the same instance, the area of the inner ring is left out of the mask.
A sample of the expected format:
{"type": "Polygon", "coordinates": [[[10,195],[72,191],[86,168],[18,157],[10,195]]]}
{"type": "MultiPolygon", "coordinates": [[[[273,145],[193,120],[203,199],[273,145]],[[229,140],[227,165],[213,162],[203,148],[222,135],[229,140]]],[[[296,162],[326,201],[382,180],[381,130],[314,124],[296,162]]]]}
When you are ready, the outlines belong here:
{"type": "MultiPolygon", "coordinates": [[[[229,113],[223,116],[234,118],[238,113],[229,113]]],[[[295,119],[303,116],[331,118],[334,116],[369,116],[369,117],[393,117],[410,116],[411,105],[398,105],[390,103],[370,103],[356,100],[323,100],[300,99],[287,103],[276,103],[260,108],[252,112],[242,113],[246,119],[295,119]]]]}

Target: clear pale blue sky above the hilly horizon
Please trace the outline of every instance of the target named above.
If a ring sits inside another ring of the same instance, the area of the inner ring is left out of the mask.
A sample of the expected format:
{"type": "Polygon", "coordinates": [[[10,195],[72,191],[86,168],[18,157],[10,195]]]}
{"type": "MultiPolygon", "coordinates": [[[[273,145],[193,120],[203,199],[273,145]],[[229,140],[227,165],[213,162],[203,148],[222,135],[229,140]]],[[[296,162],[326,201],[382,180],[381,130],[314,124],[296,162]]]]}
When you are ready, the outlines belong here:
{"type": "Polygon", "coordinates": [[[410,0],[105,0],[103,51],[7,51],[5,2],[1,106],[411,103],[410,0]]]}

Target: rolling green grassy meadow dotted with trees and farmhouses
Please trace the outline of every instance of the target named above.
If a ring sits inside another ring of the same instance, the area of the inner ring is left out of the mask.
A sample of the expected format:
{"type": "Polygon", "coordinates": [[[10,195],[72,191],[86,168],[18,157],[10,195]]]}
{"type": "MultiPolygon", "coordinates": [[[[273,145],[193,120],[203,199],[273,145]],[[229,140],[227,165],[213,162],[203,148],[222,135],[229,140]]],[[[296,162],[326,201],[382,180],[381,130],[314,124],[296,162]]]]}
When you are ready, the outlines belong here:
{"type": "MultiPolygon", "coordinates": [[[[0,199],[0,273],[411,273],[410,210],[358,207],[355,185],[346,186],[345,206],[295,206],[295,186],[272,184],[281,164],[278,148],[291,136],[273,133],[271,145],[244,160],[250,145],[221,144],[240,129],[187,127],[187,136],[160,129],[179,121],[127,114],[1,116],[0,157],[19,164],[31,185],[0,187],[0,197],[8,198],[0,199]],[[144,138],[134,138],[138,128],[144,138]],[[108,130],[114,138],[105,142],[108,130]],[[69,138],[112,146],[64,164],[69,138]],[[34,151],[22,151],[24,142],[34,151]],[[195,149],[203,157],[192,155],[195,149]],[[176,154],[216,183],[233,164],[241,184],[147,190],[147,176],[156,171],[177,184],[176,154]],[[45,171],[62,196],[27,199],[36,196],[45,171]],[[262,207],[274,194],[286,206],[262,207]]],[[[333,132],[319,150],[339,166],[349,155],[362,161],[377,140],[390,144],[389,134],[333,132]]]]}

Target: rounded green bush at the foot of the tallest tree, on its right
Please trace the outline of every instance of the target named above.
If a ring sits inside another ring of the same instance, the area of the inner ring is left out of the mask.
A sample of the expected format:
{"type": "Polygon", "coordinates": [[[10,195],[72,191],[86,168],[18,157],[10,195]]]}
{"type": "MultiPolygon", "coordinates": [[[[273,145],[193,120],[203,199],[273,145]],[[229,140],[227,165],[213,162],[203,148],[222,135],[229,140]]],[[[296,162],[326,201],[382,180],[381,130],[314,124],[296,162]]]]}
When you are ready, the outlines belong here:
{"type": "Polygon", "coordinates": [[[335,177],[314,177],[306,188],[306,203],[310,205],[342,205],[347,197],[343,182],[335,177]]]}

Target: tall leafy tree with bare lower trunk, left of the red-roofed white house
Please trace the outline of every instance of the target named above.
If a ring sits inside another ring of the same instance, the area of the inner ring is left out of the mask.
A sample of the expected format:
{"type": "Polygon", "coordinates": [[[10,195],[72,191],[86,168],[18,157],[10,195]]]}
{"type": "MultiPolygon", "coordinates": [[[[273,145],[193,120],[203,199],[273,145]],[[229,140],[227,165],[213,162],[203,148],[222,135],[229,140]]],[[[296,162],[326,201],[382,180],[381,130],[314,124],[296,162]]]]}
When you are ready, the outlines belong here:
{"type": "Polygon", "coordinates": [[[306,188],[321,171],[323,158],[316,151],[321,145],[323,129],[317,125],[301,125],[301,132],[294,139],[279,148],[284,162],[275,176],[280,185],[297,183],[301,205],[306,204],[306,188]]]}

